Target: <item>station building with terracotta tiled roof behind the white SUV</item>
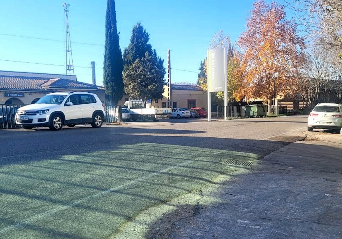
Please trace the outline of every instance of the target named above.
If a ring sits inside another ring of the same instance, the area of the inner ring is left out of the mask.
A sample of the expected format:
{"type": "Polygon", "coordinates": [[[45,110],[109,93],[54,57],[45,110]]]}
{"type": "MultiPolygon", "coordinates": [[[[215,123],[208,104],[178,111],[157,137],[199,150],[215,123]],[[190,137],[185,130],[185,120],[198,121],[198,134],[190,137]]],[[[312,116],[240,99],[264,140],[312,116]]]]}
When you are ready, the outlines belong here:
{"type": "Polygon", "coordinates": [[[75,75],[0,71],[0,104],[31,104],[56,91],[95,93],[105,102],[102,86],[79,82],[75,75]]]}

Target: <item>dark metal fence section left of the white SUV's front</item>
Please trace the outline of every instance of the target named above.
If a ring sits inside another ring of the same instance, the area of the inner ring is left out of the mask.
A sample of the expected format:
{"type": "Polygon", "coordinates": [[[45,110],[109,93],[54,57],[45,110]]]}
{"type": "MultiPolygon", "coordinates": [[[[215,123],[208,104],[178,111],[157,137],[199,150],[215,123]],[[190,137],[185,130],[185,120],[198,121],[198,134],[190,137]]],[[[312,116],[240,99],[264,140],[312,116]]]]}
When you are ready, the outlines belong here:
{"type": "Polygon", "coordinates": [[[24,105],[0,104],[0,129],[19,128],[15,123],[15,113],[24,105]]]}

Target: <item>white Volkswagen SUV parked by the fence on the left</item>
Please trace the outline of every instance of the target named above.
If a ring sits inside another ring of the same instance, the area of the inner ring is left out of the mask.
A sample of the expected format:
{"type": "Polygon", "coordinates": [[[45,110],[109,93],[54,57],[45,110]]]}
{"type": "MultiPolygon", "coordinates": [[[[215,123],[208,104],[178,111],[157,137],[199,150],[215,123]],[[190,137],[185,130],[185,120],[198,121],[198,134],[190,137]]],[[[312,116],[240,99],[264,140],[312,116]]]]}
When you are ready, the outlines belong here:
{"type": "Polygon", "coordinates": [[[89,123],[95,128],[102,126],[104,105],[95,94],[87,92],[55,92],[47,94],[35,104],[18,109],[15,121],[24,129],[49,127],[60,130],[64,124],[89,123]]]}

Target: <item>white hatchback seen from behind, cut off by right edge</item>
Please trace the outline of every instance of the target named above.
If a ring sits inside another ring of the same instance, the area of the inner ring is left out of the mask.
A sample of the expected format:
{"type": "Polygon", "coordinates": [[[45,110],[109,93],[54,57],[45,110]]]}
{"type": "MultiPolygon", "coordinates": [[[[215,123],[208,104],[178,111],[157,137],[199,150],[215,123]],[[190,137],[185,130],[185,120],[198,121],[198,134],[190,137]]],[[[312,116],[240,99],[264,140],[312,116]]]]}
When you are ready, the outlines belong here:
{"type": "Polygon", "coordinates": [[[334,129],[340,132],[342,128],[342,104],[319,103],[307,119],[307,130],[334,129]]]}

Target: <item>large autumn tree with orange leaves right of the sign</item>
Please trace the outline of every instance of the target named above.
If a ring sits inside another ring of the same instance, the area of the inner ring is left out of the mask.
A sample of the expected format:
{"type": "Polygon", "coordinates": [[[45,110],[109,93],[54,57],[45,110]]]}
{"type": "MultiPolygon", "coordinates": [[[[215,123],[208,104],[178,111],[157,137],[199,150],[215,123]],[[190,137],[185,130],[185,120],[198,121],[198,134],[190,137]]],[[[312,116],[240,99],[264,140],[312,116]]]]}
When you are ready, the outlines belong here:
{"type": "Polygon", "coordinates": [[[297,35],[294,20],[285,17],[284,6],[277,2],[254,2],[246,31],[238,41],[244,77],[242,88],[235,91],[237,100],[245,95],[271,105],[274,86],[276,96],[291,90],[304,56],[304,39],[297,35]]]}

